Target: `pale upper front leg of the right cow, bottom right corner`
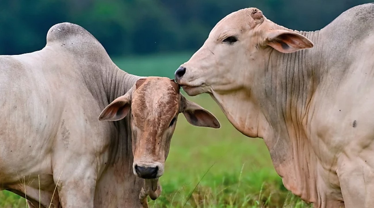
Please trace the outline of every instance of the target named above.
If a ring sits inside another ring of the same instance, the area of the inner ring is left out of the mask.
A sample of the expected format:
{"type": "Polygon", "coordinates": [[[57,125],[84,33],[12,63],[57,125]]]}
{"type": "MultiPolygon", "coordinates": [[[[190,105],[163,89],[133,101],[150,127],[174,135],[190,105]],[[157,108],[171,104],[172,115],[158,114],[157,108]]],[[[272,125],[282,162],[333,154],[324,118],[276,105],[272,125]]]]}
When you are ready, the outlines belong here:
{"type": "Polygon", "coordinates": [[[371,208],[374,205],[374,172],[364,161],[345,160],[338,167],[337,173],[346,208],[371,208]]]}

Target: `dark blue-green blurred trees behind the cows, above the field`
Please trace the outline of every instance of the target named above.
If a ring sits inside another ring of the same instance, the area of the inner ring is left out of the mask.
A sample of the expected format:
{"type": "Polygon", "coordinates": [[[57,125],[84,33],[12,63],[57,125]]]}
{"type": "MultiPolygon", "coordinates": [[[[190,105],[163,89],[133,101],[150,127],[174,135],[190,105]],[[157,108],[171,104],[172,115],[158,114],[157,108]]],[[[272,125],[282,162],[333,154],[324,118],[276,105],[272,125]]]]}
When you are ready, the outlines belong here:
{"type": "Polygon", "coordinates": [[[41,49],[59,22],[90,31],[110,55],[195,51],[227,14],[258,7],[294,30],[318,30],[369,0],[1,0],[0,54],[41,49]]]}

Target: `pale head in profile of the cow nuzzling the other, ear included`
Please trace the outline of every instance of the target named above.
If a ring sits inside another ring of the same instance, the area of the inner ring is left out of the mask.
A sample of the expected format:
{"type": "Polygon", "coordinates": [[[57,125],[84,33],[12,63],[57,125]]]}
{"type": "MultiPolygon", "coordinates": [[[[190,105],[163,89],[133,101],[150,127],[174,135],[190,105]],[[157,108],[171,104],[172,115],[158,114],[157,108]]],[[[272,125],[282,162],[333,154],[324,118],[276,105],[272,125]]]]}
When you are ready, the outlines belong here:
{"type": "Polygon", "coordinates": [[[215,25],[203,46],[175,71],[188,95],[227,93],[247,88],[264,70],[273,49],[291,53],[313,47],[306,37],[266,19],[257,8],[227,15],[215,25]]]}

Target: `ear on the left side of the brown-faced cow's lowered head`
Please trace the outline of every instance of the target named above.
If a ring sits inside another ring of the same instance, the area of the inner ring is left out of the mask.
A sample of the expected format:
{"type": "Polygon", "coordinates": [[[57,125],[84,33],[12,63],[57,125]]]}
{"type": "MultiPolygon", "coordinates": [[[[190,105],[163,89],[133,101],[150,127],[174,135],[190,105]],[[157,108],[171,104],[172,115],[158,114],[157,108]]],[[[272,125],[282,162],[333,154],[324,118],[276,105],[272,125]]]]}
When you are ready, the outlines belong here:
{"type": "Polygon", "coordinates": [[[99,120],[121,120],[129,113],[131,108],[131,92],[118,97],[101,112],[99,120]]]}

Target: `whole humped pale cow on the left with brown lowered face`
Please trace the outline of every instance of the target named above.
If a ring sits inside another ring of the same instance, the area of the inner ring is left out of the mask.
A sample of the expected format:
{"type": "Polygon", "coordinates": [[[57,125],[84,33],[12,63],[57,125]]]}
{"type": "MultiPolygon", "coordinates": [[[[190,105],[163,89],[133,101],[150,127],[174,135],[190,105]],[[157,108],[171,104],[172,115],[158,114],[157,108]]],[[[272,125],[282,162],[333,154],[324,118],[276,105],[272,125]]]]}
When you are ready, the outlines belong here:
{"type": "Polygon", "coordinates": [[[0,190],[31,207],[147,207],[161,191],[177,115],[220,126],[173,80],[120,70],[75,24],[51,27],[40,51],[0,56],[0,73],[0,190]]]}

